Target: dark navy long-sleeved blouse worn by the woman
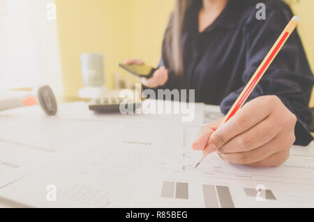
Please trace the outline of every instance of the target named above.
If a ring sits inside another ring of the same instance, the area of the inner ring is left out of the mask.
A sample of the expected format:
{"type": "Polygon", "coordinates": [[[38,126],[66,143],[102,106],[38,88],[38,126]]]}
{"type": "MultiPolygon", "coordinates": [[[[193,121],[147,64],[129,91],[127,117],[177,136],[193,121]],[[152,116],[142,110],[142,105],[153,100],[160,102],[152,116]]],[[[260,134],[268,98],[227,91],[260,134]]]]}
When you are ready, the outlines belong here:
{"type": "MultiPolygon", "coordinates": [[[[184,73],[170,77],[163,89],[195,89],[195,101],[220,105],[227,113],[251,79],[267,52],[293,17],[280,0],[229,0],[216,21],[198,31],[201,0],[194,0],[186,14],[182,36],[184,73]],[[257,20],[256,4],[266,5],[266,20],[257,20]]],[[[165,44],[160,65],[167,64],[165,44]]],[[[297,145],[313,140],[308,101],[314,78],[297,30],[278,53],[248,101],[263,95],[276,95],[298,118],[297,145]]]]}

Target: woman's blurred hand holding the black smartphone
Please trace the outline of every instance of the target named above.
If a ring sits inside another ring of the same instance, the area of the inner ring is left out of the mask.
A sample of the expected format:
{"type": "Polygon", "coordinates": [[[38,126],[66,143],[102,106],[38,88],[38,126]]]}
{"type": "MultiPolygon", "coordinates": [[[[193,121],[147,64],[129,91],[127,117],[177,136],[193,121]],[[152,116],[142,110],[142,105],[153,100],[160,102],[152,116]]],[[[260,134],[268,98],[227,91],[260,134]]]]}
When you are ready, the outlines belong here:
{"type": "MultiPolygon", "coordinates": [[[[144,62],[140,59],[128,59],[124,61],[124,64],[144,65],[144,62]]],[[[167,82],[168,71],[165,68],[165,66],[162,66],[155,71],[154,75],[151,78],[147,79],[145,77],[138,77],[138,79],[145,87],[148,87],[148,88],[160,87],[160,86],[163,86],[167,82]]]]}

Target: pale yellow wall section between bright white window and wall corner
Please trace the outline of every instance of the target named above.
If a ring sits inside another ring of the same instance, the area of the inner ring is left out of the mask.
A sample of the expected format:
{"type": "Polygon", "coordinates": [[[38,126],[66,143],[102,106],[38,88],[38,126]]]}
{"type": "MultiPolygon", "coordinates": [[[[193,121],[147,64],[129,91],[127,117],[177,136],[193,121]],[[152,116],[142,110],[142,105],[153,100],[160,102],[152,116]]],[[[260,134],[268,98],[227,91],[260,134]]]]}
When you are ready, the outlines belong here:
{"type": "Polygon", "coordinates": [[[99,52],[105,58],[107,86],[119,71],[114,64],[130,57],[130,1],[55,0],[65,95],[77,96],[82,85],[80,54],[99,52]]]}

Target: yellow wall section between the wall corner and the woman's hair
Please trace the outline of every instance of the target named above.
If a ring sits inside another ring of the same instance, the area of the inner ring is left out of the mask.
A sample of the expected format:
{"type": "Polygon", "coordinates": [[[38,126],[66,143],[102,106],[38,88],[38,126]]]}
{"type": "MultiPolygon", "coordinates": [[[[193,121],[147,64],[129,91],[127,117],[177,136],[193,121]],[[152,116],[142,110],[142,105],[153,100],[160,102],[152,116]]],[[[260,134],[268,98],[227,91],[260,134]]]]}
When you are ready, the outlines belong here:
{"type": "Polygon", "coordinates": [[[132,0],[131,6],[132,56],[156,66],[174,0],[132,0]]]}

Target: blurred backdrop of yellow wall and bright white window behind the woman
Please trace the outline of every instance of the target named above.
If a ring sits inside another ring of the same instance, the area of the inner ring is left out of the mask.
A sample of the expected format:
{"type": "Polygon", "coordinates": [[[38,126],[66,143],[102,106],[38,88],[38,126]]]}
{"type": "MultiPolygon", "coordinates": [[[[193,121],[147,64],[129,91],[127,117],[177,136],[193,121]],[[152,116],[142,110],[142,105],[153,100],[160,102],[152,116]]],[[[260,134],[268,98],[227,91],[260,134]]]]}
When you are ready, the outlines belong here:
{"type": "MultiPolygon", "coordinates": [[[[314,67],[313,0],[287,1],[299,15],[314,67]]],[[[174,0],[0,0],[0,87],[50,84],[77,96],[80,55],[103,54],[105,85],[132,88],[136,80],[115,64],[127,58],[157,66],[174,0]]],[[[311,100],[314,106],[314,98],[311,100]]]]}

